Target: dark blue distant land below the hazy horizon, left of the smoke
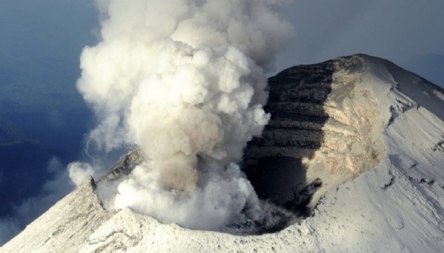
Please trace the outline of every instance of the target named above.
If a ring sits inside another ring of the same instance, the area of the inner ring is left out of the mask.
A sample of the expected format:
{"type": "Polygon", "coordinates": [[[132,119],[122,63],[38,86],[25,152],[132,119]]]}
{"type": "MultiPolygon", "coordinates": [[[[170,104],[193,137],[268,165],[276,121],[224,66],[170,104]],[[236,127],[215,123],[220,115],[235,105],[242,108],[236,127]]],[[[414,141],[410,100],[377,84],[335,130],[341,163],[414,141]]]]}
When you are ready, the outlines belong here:
{"type": "Polygon", "coordinates": [[[11,100],[0,105],[0,218],[53,179],[49,161],[63,166],[78,159],[89,129],[87,108],[28,108],[11,100]]]}

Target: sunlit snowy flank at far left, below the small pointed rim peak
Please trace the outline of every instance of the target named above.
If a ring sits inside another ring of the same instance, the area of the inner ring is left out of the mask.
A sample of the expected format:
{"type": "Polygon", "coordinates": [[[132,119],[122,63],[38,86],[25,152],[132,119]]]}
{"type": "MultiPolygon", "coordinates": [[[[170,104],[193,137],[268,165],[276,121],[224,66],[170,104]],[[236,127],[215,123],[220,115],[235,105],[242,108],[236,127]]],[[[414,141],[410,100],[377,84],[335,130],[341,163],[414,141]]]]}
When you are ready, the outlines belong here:
{"type": "Polygon", "coordinates": [[[25,230],[0,248],[0,252],[76,252],[87,237],[113,214],[101,207],[91,179],[68,194],[25,230]]]}

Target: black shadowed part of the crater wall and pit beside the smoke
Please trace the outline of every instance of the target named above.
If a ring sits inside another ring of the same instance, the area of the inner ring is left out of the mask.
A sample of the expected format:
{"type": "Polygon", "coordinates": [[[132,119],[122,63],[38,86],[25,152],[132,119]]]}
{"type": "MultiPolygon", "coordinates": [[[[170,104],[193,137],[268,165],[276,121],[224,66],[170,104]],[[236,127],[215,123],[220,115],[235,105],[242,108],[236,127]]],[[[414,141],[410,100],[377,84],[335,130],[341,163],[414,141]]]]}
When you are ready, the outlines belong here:
{"type": "Polygon", "coordinates": [[[322,128],[328,121],[323,105],[331,93],[333,72],[334,62],[328,61],[290,67],[269,79],[269,101],[264,109],[271,120],[262,135],[245,148],[242,170],[259,199],[285,212],[278,218],[281,221],[258,229],[259,233],[280,231],[312,211],[309,204],[322,181],[307,177],[303,160],[314,157],[322,146],[322,128]]]}

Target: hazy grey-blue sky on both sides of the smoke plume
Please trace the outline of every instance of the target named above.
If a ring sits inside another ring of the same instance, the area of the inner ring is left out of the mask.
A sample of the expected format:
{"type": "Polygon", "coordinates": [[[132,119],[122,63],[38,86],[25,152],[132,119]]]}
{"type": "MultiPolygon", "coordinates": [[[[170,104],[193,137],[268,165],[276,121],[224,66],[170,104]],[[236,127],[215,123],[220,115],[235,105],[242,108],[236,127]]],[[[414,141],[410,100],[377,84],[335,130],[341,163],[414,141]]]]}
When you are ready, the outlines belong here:
{"type": "MultiPolygon", "coordinates": [[[[295,37],[269,75],[366,53],[444,87],[443,0],[294,0],[279,9],[295,37]]],[[[75,89],[79,57],[98,31],[92,0],[0,0],[0,102],[85,108],[75,89]]]]}

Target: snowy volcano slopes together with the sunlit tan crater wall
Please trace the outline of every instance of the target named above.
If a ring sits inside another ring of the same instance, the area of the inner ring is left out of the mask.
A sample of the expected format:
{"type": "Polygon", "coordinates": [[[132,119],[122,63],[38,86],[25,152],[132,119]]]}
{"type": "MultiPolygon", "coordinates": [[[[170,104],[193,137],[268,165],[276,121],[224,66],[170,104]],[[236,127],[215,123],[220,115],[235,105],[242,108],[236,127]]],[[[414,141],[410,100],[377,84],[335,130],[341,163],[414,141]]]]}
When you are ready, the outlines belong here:
{"type": "Polygon", "coordinates": [[[364,55],[312,65],[303,79],[292,79],[298,72],[292,68],[280,80],[292,89],[316,79],[326,65],[331,80],[316,81],[329,82],[323,103],[307,101],[316,94],[309,91],[303,99],[293,97],[297,103],[275,103],[280,109],[269,109],[272,114],[303,113],[294,120],[274,117],[271,124],[280,124],[278,130],[266,130],[261,140],[253,141],[256,147],[247,150],[253,160],[264,155],[296,157],[306,169],[305,181],[322,180],[307,219],[264,235],[190,231],[130,209],[106,212],[92,181],[54,205],[0,252],[442,252],[443,89],[387,60],[364,55]],[[320,117],[323,124],[310,125],[320,117]],[[292,139],[292,130],[305,133],[304,139],[292,139]],[[312,139],[315,130],[317,142],[312,139]],[[306,150],[298,151],[302,146],[306,150]]]}

